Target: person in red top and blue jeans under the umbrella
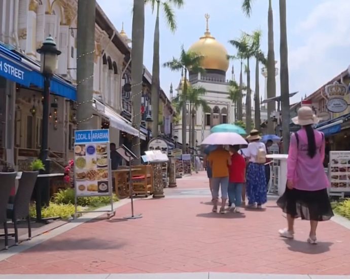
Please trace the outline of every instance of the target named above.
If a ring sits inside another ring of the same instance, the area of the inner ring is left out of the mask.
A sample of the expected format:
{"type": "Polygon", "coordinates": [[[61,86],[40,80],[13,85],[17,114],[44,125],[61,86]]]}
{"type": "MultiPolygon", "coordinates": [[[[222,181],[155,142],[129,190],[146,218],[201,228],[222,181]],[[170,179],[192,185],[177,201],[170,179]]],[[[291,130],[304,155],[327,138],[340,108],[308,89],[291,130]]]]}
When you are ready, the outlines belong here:
{"type": "Polygon", "coordinates": [[[242,204],[242,187],[246,183],[246,160],[238,153],[239,146],[230,146],[231,165],[229,166],[228,199],[230,211],[239,213],[242,204]]]}

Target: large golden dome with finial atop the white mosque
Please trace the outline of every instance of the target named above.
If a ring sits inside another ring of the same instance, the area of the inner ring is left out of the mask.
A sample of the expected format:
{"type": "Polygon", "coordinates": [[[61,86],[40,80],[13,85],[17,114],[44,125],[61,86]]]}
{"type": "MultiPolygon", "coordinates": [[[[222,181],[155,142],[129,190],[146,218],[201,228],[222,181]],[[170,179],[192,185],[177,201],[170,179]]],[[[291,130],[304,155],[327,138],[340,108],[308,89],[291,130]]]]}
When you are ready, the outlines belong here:
{"type": "Polygon", "coordinates": [[[218,69],[226,72],[229,67],[227,50],[209,32],[208,14],[205,14],[205,19],[206,31],[204,32],[204,36],[200,37],[199,41],[195,42],[188,50],[204,55],[200,63],[204,69],[218,69]]]}

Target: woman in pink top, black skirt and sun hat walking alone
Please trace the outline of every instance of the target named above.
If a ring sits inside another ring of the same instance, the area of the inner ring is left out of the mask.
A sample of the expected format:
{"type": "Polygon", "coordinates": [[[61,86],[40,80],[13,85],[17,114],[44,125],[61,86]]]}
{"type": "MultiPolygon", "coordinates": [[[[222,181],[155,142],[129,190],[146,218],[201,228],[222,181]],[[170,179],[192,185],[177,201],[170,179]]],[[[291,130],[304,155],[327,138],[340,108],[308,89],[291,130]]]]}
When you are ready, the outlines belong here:
{"type": "Polygon", "coordinates": [[[301,107],[292,121],[302,128],[291,136],[288,153],[287,188],[277,204],[287,213],[288,228],[279,230],[279,235],[294,238],[294,219],[310,220],[307,242],[316,244],[316,229],[319,221],[333,216],[327,188],[323,160],[325,158],[324,134],[314,130],[317,117],[309,107],[301,107]]]}

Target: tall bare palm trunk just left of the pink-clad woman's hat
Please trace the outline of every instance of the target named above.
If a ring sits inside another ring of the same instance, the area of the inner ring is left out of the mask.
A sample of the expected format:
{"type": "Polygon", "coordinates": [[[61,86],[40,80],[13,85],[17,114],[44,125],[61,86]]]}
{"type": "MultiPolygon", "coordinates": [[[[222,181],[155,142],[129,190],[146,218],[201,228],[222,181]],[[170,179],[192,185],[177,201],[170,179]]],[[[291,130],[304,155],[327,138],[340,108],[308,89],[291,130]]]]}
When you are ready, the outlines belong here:
{"type": "Polygon", "coordinates": [[[290,124],[290,106],[289,106],[289,73],[288,73],[288,45],[287,45],[287,13],[286,0],[279,0],[279,25],[281,26],[279,55],[281,59],[281,104],[282,104],[282,136],[283,151],[288,154],[289,149],[289,124],[290,124]]]}

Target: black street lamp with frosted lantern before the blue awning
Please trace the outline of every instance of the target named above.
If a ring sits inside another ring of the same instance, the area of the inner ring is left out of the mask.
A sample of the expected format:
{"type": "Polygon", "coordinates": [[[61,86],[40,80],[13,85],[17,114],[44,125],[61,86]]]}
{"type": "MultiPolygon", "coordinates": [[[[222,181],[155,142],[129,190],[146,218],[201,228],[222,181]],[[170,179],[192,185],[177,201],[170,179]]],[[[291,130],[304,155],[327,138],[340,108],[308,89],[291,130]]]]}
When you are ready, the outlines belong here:
{"type": "MultiPolygon", "coordinates": [[[[40,49],[40,70],[44,76],[44,99],[43,99],[43,131],[40,158],[44,164],[48,158],[48,138],[49,138],[49,106],[50,106],[50,82],[57,68],[57,56],[61,54],[57,50],[56,42],[49,36],[44,41],[40,49]]],[[[48,169],[47,169],[48,170],[48,169]]]]}

